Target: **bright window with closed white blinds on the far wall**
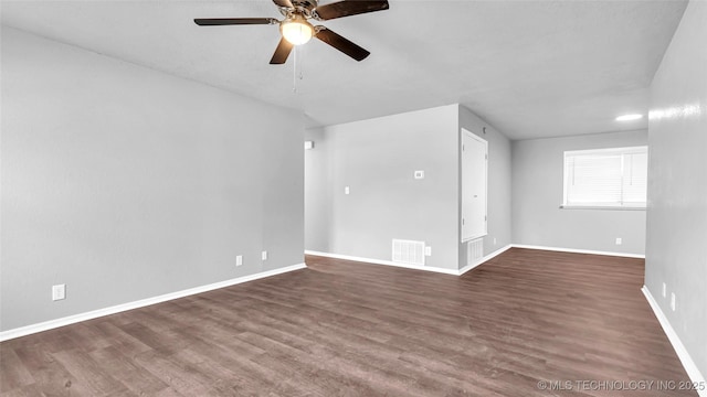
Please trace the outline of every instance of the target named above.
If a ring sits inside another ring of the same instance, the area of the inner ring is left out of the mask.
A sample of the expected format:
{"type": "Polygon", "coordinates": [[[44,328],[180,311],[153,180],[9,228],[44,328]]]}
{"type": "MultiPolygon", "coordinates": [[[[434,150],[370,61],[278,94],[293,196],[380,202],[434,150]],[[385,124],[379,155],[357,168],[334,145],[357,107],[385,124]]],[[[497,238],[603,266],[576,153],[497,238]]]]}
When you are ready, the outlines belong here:
{"type": "Polygon", "coordinates": [[[648,148],[564,152],[563,207],[645,208],[648,148]]]}

